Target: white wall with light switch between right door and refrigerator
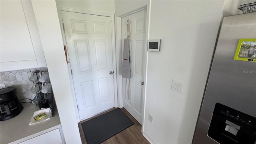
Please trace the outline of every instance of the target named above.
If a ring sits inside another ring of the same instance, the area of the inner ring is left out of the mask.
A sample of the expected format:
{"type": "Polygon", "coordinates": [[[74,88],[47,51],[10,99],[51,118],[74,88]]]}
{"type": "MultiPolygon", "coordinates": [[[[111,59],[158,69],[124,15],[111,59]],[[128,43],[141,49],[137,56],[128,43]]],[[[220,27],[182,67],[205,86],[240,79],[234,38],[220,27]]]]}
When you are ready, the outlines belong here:
{"type": "MultiPolygon", "coordinates": [[[[160,52],[147,52],[144,135],[151,142],[192,143],[222,16],[241,14],[238,6],[250,2],[150,1],[149,39],[161,39],[160,52]],[[182,94],[171,90],[172,79],[184,82],[182,94]]],[[[142,1],[116,0],[115,14],[138,5],[142,1]]]]}

